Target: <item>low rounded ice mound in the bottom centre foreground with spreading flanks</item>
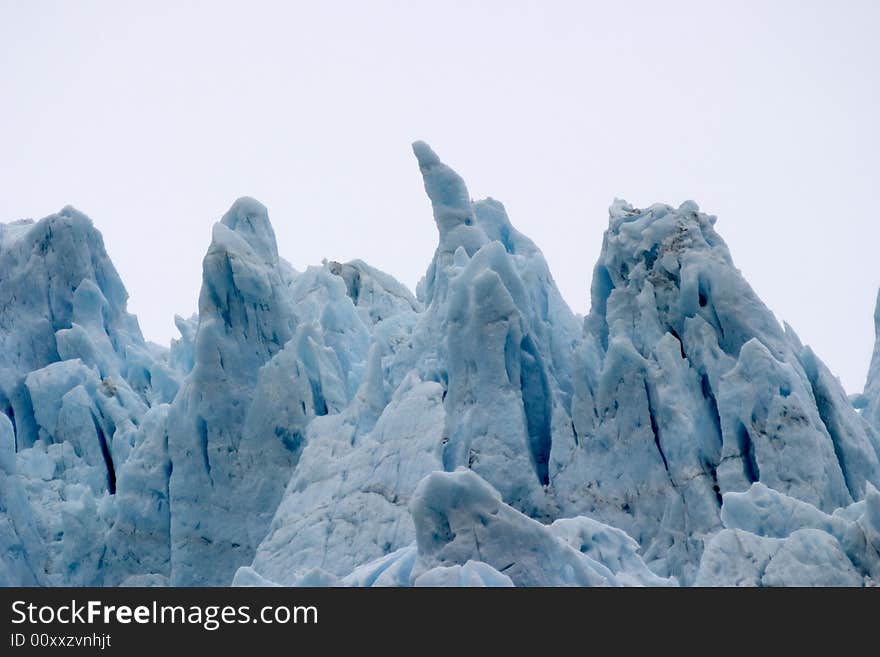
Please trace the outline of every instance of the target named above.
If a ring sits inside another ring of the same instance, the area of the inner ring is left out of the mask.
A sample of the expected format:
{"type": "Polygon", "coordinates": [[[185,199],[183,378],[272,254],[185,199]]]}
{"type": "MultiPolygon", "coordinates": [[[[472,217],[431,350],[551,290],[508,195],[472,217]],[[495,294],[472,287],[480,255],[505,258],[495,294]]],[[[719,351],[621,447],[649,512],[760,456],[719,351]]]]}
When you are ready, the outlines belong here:
{"type": "MultiPolygon", "coordinates": [[[[358,500],[360,501],[360,500],[358,500]]],[[[341,579],[321,568],[236,573],[237,586],[672,586],[652,573],[624,532],[589,518],[544,525],[504,504],[472,470],[435,471],[409,501],[415,543],[353,569],[341,579]],[[318,575],[320,574],[320,577],[318,575]]],[[[372,515],[372,514],[371,514],[372,515]]],[[[401,519],[397,518],[400,524],[401,519]]],[[[412,532],[410,532],[410,535],[412,532]]],[[[294,539],[295,540],[295,539],[294,539]]],[[[345,563],[344,559],[331,562],[345,563]]]]}

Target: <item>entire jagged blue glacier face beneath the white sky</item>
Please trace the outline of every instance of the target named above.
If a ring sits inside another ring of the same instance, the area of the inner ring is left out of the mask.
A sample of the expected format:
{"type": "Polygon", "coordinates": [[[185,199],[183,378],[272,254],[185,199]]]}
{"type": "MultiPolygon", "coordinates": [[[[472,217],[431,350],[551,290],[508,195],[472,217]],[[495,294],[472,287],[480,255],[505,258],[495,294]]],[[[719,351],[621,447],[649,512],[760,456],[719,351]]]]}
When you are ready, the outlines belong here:
{"type": "Polygon", "coordinates": [[[413,151],[415,295],[295,270],[242,198],[168,349],[84,215],[0,225],[0,584],[876,581],[876,350],[851,401],[691,201],[614,202],[578,317],[504,206],[413,151]]]}

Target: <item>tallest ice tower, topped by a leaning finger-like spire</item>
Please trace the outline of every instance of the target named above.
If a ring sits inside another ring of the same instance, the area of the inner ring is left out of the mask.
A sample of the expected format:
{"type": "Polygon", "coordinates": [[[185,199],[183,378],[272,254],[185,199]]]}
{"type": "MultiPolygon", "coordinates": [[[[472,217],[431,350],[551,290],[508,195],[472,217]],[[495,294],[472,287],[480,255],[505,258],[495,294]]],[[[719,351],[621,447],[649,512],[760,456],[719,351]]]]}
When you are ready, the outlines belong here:
{"type": "Polygon", "coordinates": [[[509,504],[553,517],[545,489],[554,441],[573,442],[570,355],[579,321],[504,206],[472,203],[461,177],[427,144],[413,151],[439,243],[419,288],[426,310],[413,348],[392,369],[415,368],[444,386],[447,470],[472,468],[509,504]]]}

